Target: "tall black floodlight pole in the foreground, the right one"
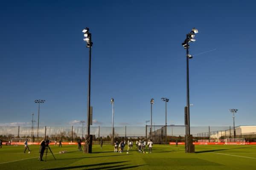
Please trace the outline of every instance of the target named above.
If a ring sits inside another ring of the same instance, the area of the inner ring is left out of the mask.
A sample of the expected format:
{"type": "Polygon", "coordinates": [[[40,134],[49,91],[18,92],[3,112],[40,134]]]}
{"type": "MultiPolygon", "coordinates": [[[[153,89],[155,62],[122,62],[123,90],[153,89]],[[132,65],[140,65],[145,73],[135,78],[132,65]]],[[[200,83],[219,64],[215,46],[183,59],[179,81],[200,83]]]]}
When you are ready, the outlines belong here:
{"type": "Polygon", "coordinates": [[[186,84],[187,84],[187,126],[186,126],[186,153],[194,153],[195,145],[193,145],[192,135],[190,135],[190,112],[189,112],[189,59],[192,58],[192,55],[189,54],[189,42],[195,42],[195,34],[198,33],[198,30],[193,28],[189,34],[186,34],[186,39],[182,43],[183,47],[186,49],[186,84]],[[189,138],[189,140],[188,140],[189,138]]]}

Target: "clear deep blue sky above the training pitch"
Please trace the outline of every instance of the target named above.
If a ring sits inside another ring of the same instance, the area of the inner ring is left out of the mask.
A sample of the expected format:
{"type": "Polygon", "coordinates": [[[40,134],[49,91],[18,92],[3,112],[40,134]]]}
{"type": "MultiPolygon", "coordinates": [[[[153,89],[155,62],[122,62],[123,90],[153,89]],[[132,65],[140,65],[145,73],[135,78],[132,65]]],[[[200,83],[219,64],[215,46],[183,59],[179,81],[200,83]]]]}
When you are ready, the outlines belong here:
{"type": "Polygon", "coordinates": [[[5,1],[0,5],[0,125],[79,125],[91,105],[95,126],[184,124],[186,51],[190,45],[192,126],[255,125],[255,1],[5,1]],[[198,55],[197,55],[198,54],[198,55]],[[37,119],[37,118],[36,118],[37,119]]]}

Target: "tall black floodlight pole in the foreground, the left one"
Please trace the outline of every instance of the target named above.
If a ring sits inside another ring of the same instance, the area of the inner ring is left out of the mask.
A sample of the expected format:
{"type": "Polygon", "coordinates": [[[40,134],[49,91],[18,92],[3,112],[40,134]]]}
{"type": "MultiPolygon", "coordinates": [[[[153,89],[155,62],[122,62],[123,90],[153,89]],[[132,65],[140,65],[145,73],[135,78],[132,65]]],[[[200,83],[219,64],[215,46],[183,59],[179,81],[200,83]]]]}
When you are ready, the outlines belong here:
{"type": "Polygon", "coordinates": [[[93,136],[90,135],[90,76],[91,76],[91,48],[93,46],[92,35],[89,32],[89,28],[85,28],[82,31],[84,33],[84,41],[86,41],[86,47],[89,48],[89,72],[88,72],[88,104],[87,104],[87,140],[84,144],[84,153],[92,153],[93,136]]]}

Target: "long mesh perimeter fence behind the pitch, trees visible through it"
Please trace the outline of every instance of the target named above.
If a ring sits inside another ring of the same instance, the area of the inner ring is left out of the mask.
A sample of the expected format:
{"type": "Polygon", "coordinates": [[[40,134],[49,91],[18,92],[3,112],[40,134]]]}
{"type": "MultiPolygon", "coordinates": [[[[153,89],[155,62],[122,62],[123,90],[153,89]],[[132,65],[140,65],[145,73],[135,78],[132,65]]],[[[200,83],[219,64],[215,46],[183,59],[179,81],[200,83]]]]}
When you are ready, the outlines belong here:
{"type": "MultiPolygon", "coordinates": [[[[104,143],[111,143],[112,127],[90,126],[90,134],[93,141],[99,142],[103,139],[104,143]]],[[[137,140],[152,139],[154,143],[184,142],[186,134],[185,125],[152,125],[151,126],[119,126],[114,127],[115,140],[137,140]]],[[[222,142],[225,138],[234,138],[233,129],[230,127],[190,127],[190,134],[193,135],[195,142],[222,142]],[[202,133],[203,132],[203,133],[202,133]]],[[[76,142],[78,139],[84,141],[87,135],[86,126],[13,126],[0,127],[0,139],[9,141],[12,138],[30,138],[32,142],[42,139],[51,141],[76,142]],[[38,134],[38,138],[37,138],[38,134]]],[[[256,134],[241,133],[241,129],[236,129],[236,138],[246,138],[247,141],[256,140],[256,134]],[[249,137],[250,136],[250,137],[249,137]]]]}

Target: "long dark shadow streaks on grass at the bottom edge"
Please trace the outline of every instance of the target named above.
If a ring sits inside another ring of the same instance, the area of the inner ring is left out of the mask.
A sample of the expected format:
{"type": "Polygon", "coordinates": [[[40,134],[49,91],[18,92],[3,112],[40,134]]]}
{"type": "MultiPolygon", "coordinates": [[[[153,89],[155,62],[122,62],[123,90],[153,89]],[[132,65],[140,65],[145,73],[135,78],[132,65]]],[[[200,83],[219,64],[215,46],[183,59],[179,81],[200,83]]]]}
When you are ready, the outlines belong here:
{"type": "MultiPolygon", "coordinates": [[[[45,170],[68,170],[68,169],[73,169],[73,168],[83,168],[83,167],[94,167],[94,166],[102,166],[102,165],[110,165],[110,164],[120,164],[124,163],[127,161],[118,161],[118,162],[106,162],[106,163],[99,163],[99,164],[87,164],[87,165],[79,165],[79,166],[72,166],[72,167],[57,167],[57,168],[51,168],[51,169],[45,169],[45,170]]],[[[111,168],[113,167],[119,167],[118,169],[120,170],[121,166],[125,166],[128,164],[123,164],[123,165],[113,165],[113,166],[108,166],[108,167],[98,167],[98,168],[91,168],[87,170],[100,170],[100,169],[106,169],[106,168],[111,168]]]]}

